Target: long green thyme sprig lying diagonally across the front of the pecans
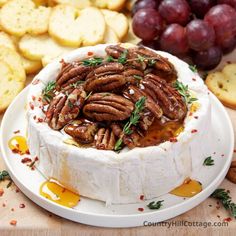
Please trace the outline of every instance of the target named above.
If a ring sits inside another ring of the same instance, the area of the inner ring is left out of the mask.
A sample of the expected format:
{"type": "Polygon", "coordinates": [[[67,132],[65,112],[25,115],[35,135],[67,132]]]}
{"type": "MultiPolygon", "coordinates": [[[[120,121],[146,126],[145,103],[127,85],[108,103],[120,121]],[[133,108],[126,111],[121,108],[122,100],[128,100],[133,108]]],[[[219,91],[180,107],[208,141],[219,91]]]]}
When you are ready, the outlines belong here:
{"type": "MultiPolygon", "coordinates": [[[[141,97],[136,103],[135,103],[135,108],[134,111],[132,112],[129,121],[125,124],[123,127],[123,135],[130,135],[132,134],[132,130],[130,129],[132,125],[137,125],[140,119],[140,112],[144,109],[145,107],[145,101],[146,97],[141,97]]],[[[115,151],[121,150],[121,145],[122,145],[122,137],[119,138],[115,144],[115,151]]]]}

